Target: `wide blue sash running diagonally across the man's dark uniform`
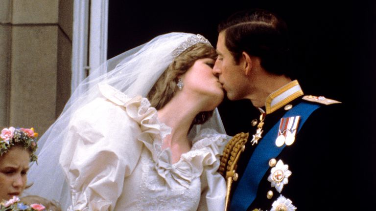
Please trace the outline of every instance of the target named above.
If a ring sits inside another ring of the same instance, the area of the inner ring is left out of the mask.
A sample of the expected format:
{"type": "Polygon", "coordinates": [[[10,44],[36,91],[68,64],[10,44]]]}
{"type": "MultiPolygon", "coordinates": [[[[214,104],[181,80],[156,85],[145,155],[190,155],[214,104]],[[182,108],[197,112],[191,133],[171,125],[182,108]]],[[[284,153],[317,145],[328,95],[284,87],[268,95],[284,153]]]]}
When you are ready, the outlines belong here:
{"type": "MultiPolygon", "coordinates": [[[[288,110],[283,117],[300,116],[298,132],[309,115],[319,107],[318,104],[302,102],[288,110]]],[[[277,147],[275,144],[279,125],[280,122],[277,122],[259,141],[234,192],[230,205],[231,211],[246,211],[248,209],[256,198],[258,184],[270,168],[269,160],[276,158],[285,147],[285,145],[277,147]]]]}

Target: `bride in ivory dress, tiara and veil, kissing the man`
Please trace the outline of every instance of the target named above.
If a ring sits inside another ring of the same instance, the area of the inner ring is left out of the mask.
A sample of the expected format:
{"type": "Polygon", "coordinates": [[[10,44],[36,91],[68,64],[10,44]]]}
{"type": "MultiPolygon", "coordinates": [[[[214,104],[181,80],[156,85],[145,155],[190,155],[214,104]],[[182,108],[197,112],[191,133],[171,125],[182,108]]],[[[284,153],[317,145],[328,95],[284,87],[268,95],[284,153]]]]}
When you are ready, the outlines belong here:
{"type": "Polygon", "coordinates": [[[41,137],[27,192],[70,210],[224,210],[215,58],[201,35],[169,33],[104,63],[41,137]]]}

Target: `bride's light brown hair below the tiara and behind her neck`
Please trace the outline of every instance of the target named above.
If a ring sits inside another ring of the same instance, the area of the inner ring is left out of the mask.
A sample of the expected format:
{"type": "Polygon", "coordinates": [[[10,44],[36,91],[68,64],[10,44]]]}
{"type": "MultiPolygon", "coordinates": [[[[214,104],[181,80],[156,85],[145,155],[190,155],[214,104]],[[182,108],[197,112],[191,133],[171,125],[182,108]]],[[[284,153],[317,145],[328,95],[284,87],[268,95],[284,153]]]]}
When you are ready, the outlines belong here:
{"type": "MultiPolygon", "coordinates": [[[[215,60],[217,54],[215,49],[205,43],[197,43],[177,56],[167,67],[158,81],[151,88],[147,98],[151,106],[157,110],[166,105],[175,95],[177,89],[178,77],[188,71],[193,64],[204,58],[215,60]]],[[[203,111],[197,114],[192,125],[205,123],[212,115],[213,111],[203,111]]]]}

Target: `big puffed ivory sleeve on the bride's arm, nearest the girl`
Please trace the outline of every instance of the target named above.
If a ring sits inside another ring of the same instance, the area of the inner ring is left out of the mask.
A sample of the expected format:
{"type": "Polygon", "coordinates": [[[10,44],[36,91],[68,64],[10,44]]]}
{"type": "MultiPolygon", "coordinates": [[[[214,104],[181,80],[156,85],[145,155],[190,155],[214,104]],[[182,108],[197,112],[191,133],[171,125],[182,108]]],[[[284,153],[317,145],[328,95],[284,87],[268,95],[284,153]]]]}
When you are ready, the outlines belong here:
{"type": "Polygon", "coordinates": [[[73,115],[60,155],[73,210],[114,210],[142,148],[139,124],[125,109],[97,98],[73,115]]]}

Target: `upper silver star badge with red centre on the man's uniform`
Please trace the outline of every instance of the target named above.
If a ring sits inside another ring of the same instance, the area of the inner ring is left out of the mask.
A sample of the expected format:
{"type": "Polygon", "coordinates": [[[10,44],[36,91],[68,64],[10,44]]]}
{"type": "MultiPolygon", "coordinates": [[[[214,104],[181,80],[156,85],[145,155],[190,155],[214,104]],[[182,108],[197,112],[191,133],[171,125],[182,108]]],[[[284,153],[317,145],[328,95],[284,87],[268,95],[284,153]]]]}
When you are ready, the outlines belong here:
{"type": "Polygon", "coordinates": [[[277,165],[270,170],[268,181],[271,187],[275,187],[278,192],[281,192],[283,185],[288,183],[288,177],[291,171],[288,170],[288,165],[284,165],[282,160],[277,162],[277,165]]]}

